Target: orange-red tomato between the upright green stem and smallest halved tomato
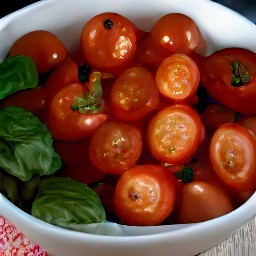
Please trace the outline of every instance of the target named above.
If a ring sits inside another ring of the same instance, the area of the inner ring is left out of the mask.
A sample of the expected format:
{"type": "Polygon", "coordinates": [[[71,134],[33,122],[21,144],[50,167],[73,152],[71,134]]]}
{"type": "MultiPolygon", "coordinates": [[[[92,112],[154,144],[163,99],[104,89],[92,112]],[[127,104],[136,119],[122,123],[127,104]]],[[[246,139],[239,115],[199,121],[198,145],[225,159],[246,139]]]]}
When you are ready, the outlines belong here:
{"type": "Polygon", "coordinates": [[[149,71],[142,67],[125,70],[111,90],[111,112],[118,120],[133,122],[145,117],[157,105],[158,90],[149,71]]]}

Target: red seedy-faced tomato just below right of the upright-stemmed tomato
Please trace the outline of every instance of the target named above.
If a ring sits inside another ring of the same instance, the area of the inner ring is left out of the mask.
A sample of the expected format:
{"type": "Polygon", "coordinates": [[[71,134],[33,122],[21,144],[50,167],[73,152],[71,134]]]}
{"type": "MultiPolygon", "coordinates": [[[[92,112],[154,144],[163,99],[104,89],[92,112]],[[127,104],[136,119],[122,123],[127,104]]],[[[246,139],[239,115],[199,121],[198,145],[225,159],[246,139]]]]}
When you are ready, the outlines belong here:
{"type": "Polygon", "coordinates": [[[93,134],[90,159],[101,171],[120,175],[138,161],[142,136],[132,125],[108,120],[93,134]]]}

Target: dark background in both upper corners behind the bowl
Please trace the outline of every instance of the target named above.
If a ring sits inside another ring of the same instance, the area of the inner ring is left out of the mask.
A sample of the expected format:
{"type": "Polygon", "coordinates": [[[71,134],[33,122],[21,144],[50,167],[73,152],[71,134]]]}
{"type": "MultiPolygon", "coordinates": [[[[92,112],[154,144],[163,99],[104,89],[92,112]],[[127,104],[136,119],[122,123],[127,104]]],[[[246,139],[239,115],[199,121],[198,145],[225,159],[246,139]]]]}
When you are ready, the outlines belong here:
{"type": "MultiPolygon", "coordinates": [[[[72,1],[72,0],[70,0],[72,1]]],[[[93,1],[93,0],[91,0],[93,1]]],[[[107,1],[107,0],[106,0],[107,1]]],[[[122,1],[122,0],[120,0],[122,1]]],[[[171,1],[171,0],[170,0],[171,1]]],[[[193,0],[191,0],[193,1],[193,0]]],[[[256,4],[255,0],[213,0],[221,3],[231,9],[241,13],[256,23],[256,4]]],[[[33,0],[1,0],[0,2],[0,17],[22,8],[23,6],[29,5],[37,1],[33,0]]],[[[196,7],[195,7],[196,8],[196,7]]]]}

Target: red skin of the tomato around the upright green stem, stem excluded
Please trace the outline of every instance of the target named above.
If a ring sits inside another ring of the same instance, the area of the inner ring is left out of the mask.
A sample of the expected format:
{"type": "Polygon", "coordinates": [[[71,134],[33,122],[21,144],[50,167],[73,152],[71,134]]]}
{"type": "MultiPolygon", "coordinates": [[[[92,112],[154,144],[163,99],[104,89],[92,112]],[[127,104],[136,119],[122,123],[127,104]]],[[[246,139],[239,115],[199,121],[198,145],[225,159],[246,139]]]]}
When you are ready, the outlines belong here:
{"type": "Polygon", "coordinates": [[[75,142],[92,136],[108,118],[105,113],[81,114],[71,109],[76,97],[83,97],[80,83],[71,84],[59,91],[53,98],[47,118],[47,125],[56,140],[75,142]]]}

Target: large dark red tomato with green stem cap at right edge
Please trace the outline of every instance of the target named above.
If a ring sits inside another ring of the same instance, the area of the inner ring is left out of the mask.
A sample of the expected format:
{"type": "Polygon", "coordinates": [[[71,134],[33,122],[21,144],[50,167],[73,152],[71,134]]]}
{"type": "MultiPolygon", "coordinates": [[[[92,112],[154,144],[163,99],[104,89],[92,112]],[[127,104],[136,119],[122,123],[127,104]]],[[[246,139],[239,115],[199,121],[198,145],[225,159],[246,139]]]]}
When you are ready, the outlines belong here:
{"type": "Polygon", "coordinates": [[[204,58],[201,85],[235,112],[256,114],[256,54],[241,48],[219,50],[204,58]]]}

